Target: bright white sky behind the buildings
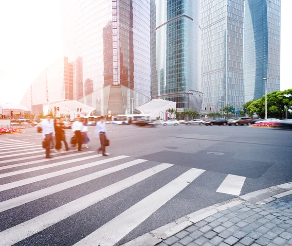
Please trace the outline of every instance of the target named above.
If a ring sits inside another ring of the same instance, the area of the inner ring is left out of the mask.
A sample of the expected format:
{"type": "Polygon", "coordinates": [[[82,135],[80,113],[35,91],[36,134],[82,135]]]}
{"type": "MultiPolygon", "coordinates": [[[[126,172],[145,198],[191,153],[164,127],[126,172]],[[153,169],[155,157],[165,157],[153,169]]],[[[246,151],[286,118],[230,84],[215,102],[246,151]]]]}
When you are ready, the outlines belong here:
{"type": "MultiPolygon", "coordinates": [[[[292,0],[281,0],[281,90],[292,88],[291,9],[292,0]]],[[[0,102],[20,103],[63,56],[63,37],[72,31],[63,32],[63,14],[62,0],[0,0],[0,102]]]]}

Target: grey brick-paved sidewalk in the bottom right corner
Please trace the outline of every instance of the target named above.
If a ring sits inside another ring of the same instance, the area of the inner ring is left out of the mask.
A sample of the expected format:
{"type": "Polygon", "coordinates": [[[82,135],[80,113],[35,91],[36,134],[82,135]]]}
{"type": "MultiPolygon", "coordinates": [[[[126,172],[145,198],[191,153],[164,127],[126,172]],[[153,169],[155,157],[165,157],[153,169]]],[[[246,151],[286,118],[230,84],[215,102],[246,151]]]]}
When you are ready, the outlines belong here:
{"type": "Polygon", "coordinates": [[[292,246],[292,195],[217,212],[157,246],[292,246]]]}

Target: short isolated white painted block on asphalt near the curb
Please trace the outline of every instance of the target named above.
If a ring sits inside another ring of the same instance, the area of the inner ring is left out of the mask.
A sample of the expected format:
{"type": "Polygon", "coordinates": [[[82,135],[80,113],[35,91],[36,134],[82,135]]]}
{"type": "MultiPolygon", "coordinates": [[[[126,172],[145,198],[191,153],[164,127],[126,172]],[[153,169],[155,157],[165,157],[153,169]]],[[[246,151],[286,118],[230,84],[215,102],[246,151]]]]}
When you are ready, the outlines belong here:
{"type": "Polygon", "coordinates": [[[216,192],[239,195],[246,177],[229,174],[220,184],[216,192]]]}

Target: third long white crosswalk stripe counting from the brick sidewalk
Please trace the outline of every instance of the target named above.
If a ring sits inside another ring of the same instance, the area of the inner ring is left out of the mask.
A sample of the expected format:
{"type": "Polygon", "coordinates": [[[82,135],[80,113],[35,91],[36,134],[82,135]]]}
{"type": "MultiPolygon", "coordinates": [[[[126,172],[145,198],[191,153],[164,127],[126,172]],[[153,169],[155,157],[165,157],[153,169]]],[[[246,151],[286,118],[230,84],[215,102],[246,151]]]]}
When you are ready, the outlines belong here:
{"type": "Polygon", "coordinates": [[[92,174],[89,174],[86,176],[78,177],[78,178],[75,178],[75,179],[60,183],[60,184],[56,184],[56,185],[32,192],[32,193],[24,194],[24,195],[0,202],[0,212],[18,207],[22,204],[37,200],[37,199],[45,197],[47,195],[51,195],[51,194],[54,194],[54,193],[57,193],[60,191],[64,191],[64,190],[72,188],[74,186],[89,182],[93,179],[96,179],[96,178],[99,178],[102,176],[112,174],[114,172],[123,170],[123,169],[128,168],[128,167],[132,167],[134,165],[140,164],[140,163],[145,162],[145,161],[147,161],[147,160],[144,160],[144,159],[132,160],[132,161],[126,162],[124,164],[110,167],[110,168],[104,169],[102,171],[98,171],[98,172],[95,172],[95,173],[92,173],[92,174]]]}

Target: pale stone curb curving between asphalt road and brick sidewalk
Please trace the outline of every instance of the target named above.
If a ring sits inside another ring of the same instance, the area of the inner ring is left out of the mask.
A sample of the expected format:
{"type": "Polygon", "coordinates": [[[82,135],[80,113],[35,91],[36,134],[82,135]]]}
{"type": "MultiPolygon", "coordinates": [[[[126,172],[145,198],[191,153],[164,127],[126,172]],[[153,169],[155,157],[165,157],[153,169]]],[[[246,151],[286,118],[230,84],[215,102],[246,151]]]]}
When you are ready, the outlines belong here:
{"type": "Polygon", "coordinates": [[[155,246],[183,229],[196,224],[197,222],[217,212],[232,208],[245,202],[254,203],[256,205],[264,205],[276,200],[277,198],[290,194],[292,194],[292,182],[271,186],[266,189],[240,195],[237,198],[220,202],[213,206],[187,214],[174,222],[170,222],[169,224],[137,237],[122,246],[155,246]]]}

